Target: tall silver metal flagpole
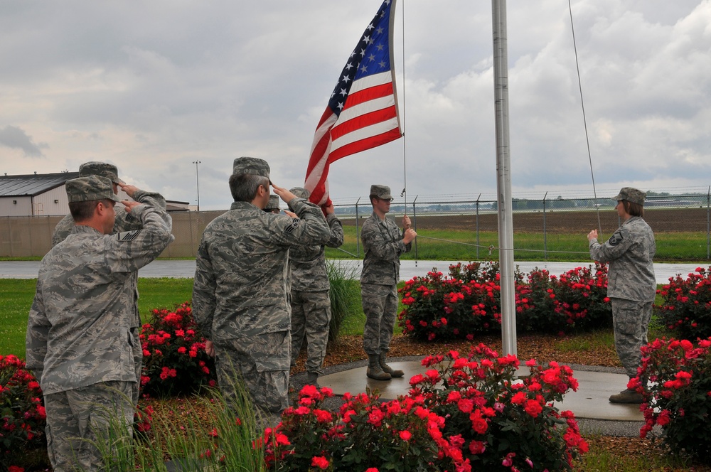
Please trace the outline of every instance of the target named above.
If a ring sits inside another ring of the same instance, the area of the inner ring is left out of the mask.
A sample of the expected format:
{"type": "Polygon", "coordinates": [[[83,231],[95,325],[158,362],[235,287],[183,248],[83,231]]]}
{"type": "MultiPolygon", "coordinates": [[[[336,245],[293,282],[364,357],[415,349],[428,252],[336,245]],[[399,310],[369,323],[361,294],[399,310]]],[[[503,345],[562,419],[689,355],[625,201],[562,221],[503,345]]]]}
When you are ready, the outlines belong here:
{"type": "Polygon", "coordinates": [[[496,112],[496,189],[498,198],[498,260],[501,271],[501,342],[503,354],[518,355],[513,272],[513,212],[508,136],[508,45],[506,0],[491,0],[493,75],[496,112]]]}

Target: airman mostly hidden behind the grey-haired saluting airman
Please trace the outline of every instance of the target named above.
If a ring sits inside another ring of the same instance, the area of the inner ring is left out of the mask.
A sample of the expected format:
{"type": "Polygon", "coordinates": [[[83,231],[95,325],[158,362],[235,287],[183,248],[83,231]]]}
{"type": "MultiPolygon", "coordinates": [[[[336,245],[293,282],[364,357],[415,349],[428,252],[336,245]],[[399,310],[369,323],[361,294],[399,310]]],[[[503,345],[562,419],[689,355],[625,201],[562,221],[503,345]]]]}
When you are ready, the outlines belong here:
{"type": "MultiPolygon", "coordinates": [[[[290,192],[297,197],[309,198],[309,191],[301,187],[294,187],[290,192]]],[[[289,250],[292,284],[292,365],[296,365],[296,358],[306,336],[306,383],[310,385],[318,385],[319,375],[324,373],[322,366],[331,323],[325,247],[343,245],[343,225],[341,220],[336,218],[333,204],[329,203],[324,210],[326,222],[331,228],[331,239],[326,245],[299,246],[289,250]]]]}

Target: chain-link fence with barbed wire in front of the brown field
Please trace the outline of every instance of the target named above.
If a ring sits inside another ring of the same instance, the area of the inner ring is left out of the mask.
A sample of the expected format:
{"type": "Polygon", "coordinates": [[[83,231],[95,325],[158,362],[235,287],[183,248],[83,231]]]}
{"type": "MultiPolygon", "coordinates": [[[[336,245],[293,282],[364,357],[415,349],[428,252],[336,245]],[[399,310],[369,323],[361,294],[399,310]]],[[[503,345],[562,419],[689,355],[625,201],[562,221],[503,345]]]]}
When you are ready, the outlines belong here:
{"type": "MultiPolygon", "coordinates": [[[[513,243],[517,260],[587,260],[587,233],[609,237],[621,225],[611,199],[514,198],[513,243]],[[596,203],[597,202],[597,203],[596,203]]],[[[367,198],[338,204],[336,214],[346,228],[346,251],[362,257],[358,232],[372,207],[367,198]],[[364,203],[365,202],[365,203],[364,203]],[[356,225],[358,222],[358,225],[356,225]],[[348,230],[348,227],[352,227],[348,230]],[[349,235],[351,236],[349,238],[349,235]],[[348,240],[353,240],[348,244],[348,240]]],[[[389,218],[400,224],[407,213],[417,231],[409,259],[498,260],[496,200],[394,200],[389,218]]],[[[711,195],[649,195],[644,219],[656,235],[658,261],[711,259],[711,195]]],[[[331,257],[337,257],[331,251],[331,257]]]]}

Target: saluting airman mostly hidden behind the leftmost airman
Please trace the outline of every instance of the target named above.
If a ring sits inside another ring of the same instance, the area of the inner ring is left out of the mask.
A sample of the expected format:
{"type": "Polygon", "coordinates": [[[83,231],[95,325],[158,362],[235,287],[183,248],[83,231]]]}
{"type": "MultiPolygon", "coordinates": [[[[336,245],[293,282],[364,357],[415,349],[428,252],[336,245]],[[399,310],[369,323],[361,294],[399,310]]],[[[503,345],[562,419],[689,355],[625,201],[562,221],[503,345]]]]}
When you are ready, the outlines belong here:
{"type": "MultiPolygon", "coordinates": [[[[161,195],[160,193],[143,191],[137,188],[136,186],[128,185],[119,178],[118,169],[113,164],[97,161],[82,163],[82,165],[79,166],[79,176],[102,176],[109,178],[109,180],[113,183],[114,193],[117,193],[118,188],[121,187],[122,191],[129,195],[130,198],[140,203],[144,203],[144,205],[150,205],[156,208],[161,208],[162,210],[166,209],[166,199],[163,198],[163,195],[161,195]]],[[[140,230],[143,226],[141,220],[139,218],[135,218],[132,213],[127,212],[126,208],[124,208],[123,206],[118,206],[114,210],[116,213],[116,218],[112,234],[140,230]]],[[[72,232],[73,227],[74,218],[72,218],[72,215],[66,215],[60,222],[58,222],[57,226],[54,228],[54,233],[52,235],[52,245],[56,246],[60,242],[65,240],[66,237],[72,232]]],[[[134,273],[133,278],[134,287],[136,289],[136,319],[134,321],[134,328],[139,331],[141,327],[141,317],[139,316],[138,312],[138,272],[134,273]]],[[[141,370],[143,369],[143,348],[140,343],[134,345],[134,362],[136,363],[136,375],[140,379],[141,370]]],[[[139,382],[135,385],[134,392],[131,395],[134,400],[134,405],[138,404],[140,390],[141,383],[139,382]]]]}

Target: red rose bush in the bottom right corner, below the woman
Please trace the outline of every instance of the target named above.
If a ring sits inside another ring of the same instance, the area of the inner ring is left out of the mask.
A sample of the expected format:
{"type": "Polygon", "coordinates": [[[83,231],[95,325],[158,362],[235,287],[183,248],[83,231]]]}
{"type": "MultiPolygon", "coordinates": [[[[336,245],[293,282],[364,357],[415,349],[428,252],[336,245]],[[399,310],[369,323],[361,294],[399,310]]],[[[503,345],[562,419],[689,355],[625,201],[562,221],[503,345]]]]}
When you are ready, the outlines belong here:
{"type": "Polygon", "coordinates": [[[644,399],[641,437],[658,425],[672,451],[711,464],[711,338],[696,345],[653,340],[642,347],[642,367],[629,387],[644,399]],[[645,378],[649,382],[643,386],[645,378]]]}

